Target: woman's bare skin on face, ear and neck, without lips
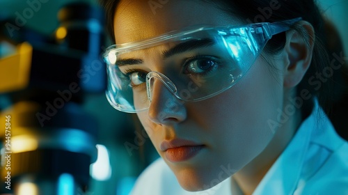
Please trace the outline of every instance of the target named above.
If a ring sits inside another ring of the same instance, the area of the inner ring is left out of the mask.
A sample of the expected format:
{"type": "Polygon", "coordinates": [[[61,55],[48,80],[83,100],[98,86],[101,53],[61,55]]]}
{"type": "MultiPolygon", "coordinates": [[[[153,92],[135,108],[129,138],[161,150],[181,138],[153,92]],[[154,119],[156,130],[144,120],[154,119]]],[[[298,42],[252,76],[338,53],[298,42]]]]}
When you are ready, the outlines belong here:
{"type": "MultiPolygon", "coordinates": [[[[227,26],[245,22],[202,1],[168,1],[157,8],[155,14],[148,1],[121,1],[114,22],[116,44],[143,40],[196,24],[227,26]]],[[[278,121],[277,109],[283,110],[291,104],[289,98],[294,96],[296,84],[310,62],[306,55],[298,55],[298,49],[302,47],[294,47],[303,46],[296,33],[287,33],[287,37],[289,41],[283,51],[277,55],[262,54],[264,58],[259,57],[235,86],[213,98],[182,102],[160,82],[155,83],[150,109],[138,116],[157,152],[184,189],[207,189],[216,185],[212,182],[216,179],[221,182],[234,177],[242,192],[251,194],[290,142],[301,123],[299,111],[274,130],[267,123],[278,121]],[[268,62],[276,65],[278,70],[272,71],[268,62]],[[160,150],[160,144],[172,139],[187,139],[205,148],[187,161],[170,162],[160,150]],[[219,175],[221,166],[235,174],[219,175]]],[[[135,68],[146,72],[168,71],[157,56],[161,49],[171,46],[152,49],[145,59],[149,63],[135,68]]]]}

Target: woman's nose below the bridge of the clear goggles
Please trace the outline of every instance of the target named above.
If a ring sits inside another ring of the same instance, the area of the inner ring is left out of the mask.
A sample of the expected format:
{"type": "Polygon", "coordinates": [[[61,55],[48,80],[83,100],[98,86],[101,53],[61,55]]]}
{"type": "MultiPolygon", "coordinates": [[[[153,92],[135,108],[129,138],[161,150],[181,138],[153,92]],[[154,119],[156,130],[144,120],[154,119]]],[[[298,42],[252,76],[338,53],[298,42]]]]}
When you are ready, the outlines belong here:
{"type": "Polygon", "coordinates": [[[184,102],[171,93],[164,81],[152,78],[150,84],[150,107],[148,116],[154,123],[170,125],[180,123],[187,117],[184,102]]]}

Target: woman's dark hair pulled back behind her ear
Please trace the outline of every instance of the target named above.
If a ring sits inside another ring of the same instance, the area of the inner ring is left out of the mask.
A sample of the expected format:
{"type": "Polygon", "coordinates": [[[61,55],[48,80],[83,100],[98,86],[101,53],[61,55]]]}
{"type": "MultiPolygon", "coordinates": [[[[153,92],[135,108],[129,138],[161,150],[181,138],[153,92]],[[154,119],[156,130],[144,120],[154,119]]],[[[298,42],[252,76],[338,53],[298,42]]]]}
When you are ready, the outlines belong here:
{"type": "MultiPolygon", "coordinates": [[[[340,82],[340,85],[347,86],[347,81],[345,82],[342,79],[343,75],[342,68],[344,68],[343,64],[338,70],[333,70],[330,67],[331,58],[333,59],[333,55],[340,56],[340,52],[343,52],[342,45],[332,45],[332,37],[329,36],[330,28],[327,28],[326,24],[329,24],[328,21],[324,20],[322,13],[320,12],[316,2],[314,0],[234,0],[234,1],[212,1],[212,0],[200,0],[205,1],[207,3],[212,3],[212,6],[217,6],[222,11],[226,13],[230,13],[234,16],[239,17],[242,21],[246,23],[256,23],[256,22],[278,22],[282,20],[290,20],[296,17],[302,17],[303,20],[306,20],[310,24],[312,24],[315,30],[315,38],[311,38],[306,36],[307,33],[301,32],[301,29],[298,26],[292,26],[292,29],[299,31],[303,35],[303,38],[308,42],[310,39],[315,41],[315,45],[313,48],[313,58],[310,64],[310,68],[306,72],[306,75],[303,77],[301,83],[297,86],[297,97],[301,97],[301,91],[306,90],[310,93],[311,97],[317,97],[319,104],[323,107],[326,114],[331,118],[334,122],[334,126],[338,133],[348,139],[347,132],[344,132],[344,129],[348,129],[348,123],[343,122],[344,120],[335,120],[335,116],[346,116],[348,115],[346,104],[346,109],[338,110],[331,109],[333,105],[331,103],[337,103],[342,101],[345,93],[347,93],[347,88],[345,88],[346,92],[344,93],[342,88],[338,89],[341,91],[337,93],[336,91],[332,91],[334,89],[334,84],[337,85],[337,82],[340,82]],[[329,45],[331,44],[331,45],[329,45]],[[330,47],[329,47],[330,46],[330,47]],[[324,72],[325,70],[330,70],[330,74],[326,81],[317,81],[313,78],[316,77],[317,74],[327,74],[324,72]],[[331,74],[331,72],[333,72],[331,74]],[[335,97],[331,95],[335,94],[335,97]],[[335,100],[335,101],[334,101],[335,100]],[[339,112],[339,113],[338,113],[339,112]]],[[[111,39],[115,41],[113,36],[113,17],[115,14],[116,6],[118,5],[118,0],[100,0],[100,3],[104,7],[106,11],[106,20],[107,20],[107,28],[111,35],[111,39]]],[[[332,25],[331,25],[332,27],[332,25]]],[[[331,28],[332,31],[332,28],[331,28]]],[[[265,52],[269,54],[275,54],[283,49],[285,46],[285,33],[280,33],[269,42],[267,42],[267,46],[265,48],[265,52]]],[[[341,62],[344,59],[340,59],[341,62]]],[[[347,77],[347,76],[346,76],[347,77]]],[[[347,77],[348,78],[348,77],[347,77]]],[[[347,96],[346,96],[347,97],[347,96]]],[[[306,117],[310,114],[310,111],[313,108],[313,98],[310,100],[302,100],[303,104],[301,104],[302,116],[306,117]]]]}

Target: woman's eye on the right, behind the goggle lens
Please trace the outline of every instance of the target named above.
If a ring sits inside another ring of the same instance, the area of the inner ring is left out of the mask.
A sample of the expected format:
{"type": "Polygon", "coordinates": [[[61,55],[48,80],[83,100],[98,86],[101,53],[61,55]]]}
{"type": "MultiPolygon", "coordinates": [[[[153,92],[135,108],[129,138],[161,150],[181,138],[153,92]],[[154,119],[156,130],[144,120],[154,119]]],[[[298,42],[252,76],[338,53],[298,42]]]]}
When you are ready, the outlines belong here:
{"type": "Polygon", "coordinates": [[[185,65],[187,67],[187,73],[202,74],[216,68],[218,63],[211,56],[202,56],[189,59],[185,65]]]}

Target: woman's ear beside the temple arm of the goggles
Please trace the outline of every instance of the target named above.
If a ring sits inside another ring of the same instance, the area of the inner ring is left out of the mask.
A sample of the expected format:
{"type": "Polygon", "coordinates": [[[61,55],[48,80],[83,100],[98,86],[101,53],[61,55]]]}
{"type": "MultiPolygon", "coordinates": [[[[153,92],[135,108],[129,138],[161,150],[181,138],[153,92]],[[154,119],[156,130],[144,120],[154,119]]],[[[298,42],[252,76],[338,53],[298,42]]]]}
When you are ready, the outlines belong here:
{"type": "Polygon", "coordinates": [[[287,66],[285,67],[284,86],[292,88],[299,84],[306,74],[312,61],[315,33],[313,26],[301,21],[299,31],[287,31],[285,54],[287,66]]]}

